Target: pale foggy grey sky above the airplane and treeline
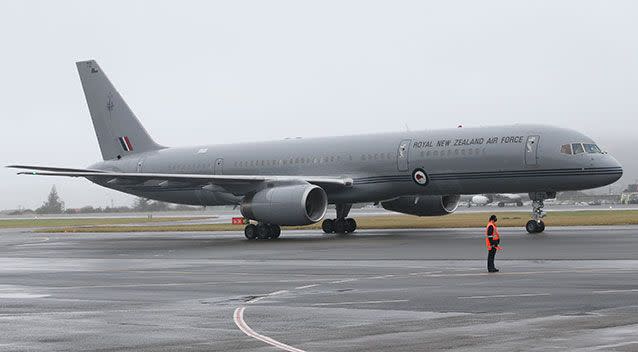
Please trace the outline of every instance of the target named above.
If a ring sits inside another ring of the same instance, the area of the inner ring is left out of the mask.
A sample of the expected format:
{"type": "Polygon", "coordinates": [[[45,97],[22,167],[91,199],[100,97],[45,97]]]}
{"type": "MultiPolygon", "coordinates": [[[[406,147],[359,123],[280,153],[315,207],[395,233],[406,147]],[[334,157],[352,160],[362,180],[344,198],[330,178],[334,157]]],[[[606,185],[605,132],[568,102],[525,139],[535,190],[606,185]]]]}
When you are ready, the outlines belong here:
{"type": "MultiPolygon", "coordinates": [[[[575,128],[638,178],[636,1],[2,1],[0,165],[100,160],[75,61],[161,144],[508,123],[575,128]]],[[[0,209],[128,205],[0,170],[0,209]]]]}

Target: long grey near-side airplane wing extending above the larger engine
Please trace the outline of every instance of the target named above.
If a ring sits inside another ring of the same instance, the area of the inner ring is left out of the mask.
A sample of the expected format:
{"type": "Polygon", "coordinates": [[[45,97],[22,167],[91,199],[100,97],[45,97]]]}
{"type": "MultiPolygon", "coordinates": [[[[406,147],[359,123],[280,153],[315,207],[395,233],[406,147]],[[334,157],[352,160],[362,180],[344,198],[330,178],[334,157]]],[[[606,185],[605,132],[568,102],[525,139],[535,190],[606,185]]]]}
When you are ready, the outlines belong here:
{"type": "Polygon", "coordinates": [[[102,181],[107,185],[162,187],[169,183],[184,186],[207,185],[221,186],[234,194],[246,194],[262,182],[303,181],[322,188],[350,187],[351,178],[323,176],[279,176],[279,175],[205,175],[205,174],[166,174],[166,173],[128,173],[93,169],[71,169],[48,166],[10,165],[9,168],[24,169],[18,175],[85,177],[91,181],[102,181]]]}

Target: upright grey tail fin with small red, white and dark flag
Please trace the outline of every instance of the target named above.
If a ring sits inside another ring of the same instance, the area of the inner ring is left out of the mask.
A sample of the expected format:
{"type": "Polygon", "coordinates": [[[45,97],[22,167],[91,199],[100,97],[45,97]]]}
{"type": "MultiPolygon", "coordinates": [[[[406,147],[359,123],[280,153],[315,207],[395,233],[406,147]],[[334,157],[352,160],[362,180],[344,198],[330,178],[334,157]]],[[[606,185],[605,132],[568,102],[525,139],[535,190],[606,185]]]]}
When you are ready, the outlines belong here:
{"type": "Polygon", "coordinates": [[[95,60],[76,65],[104,160],[164,148],[146,132],[95,60]]]}

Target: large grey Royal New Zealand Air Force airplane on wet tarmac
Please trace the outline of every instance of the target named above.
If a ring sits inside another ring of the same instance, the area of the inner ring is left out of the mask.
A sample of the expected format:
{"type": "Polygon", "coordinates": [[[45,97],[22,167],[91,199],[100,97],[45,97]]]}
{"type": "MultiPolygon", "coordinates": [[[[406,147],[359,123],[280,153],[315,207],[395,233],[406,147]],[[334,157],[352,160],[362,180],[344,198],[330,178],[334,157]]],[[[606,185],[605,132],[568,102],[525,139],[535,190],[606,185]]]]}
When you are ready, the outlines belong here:
{"type": "Polygon", "coordinates": [[[529,193],[530,233],[543,201],[601,187],[622,167],[577,131],[511,125],[169,148],[156,143],[93,61],[77,63],[103,161],[88,168],[12,165],[20,174],[84,177],[165,202],[237,205],[248,239],[278,238],[283,225],[336,218],[326,233],[351,233],[352,204],[379,202],[416,216],[454,212],[461,194],[529,193]]]}

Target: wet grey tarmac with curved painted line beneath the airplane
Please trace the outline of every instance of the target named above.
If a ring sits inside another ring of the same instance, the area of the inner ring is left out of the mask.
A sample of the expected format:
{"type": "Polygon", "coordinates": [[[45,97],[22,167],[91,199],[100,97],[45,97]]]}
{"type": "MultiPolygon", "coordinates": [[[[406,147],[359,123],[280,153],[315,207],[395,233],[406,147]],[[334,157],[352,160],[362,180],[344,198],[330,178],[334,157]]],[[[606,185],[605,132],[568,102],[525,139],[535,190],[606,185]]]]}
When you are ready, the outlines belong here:
{"type": "Polygon", "coordinates": [[[0,231],[0,351],[638,351],[638,227],[0,231]]]}

